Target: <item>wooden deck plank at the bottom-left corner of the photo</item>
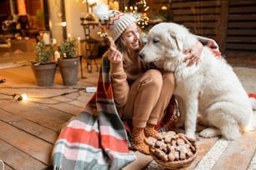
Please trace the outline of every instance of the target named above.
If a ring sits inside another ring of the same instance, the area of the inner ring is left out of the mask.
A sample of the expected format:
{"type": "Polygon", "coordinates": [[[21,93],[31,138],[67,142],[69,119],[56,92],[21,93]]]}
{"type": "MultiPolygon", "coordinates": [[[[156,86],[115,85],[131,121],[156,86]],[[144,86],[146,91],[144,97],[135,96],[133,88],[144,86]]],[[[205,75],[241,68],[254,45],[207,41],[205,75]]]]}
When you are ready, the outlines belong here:
{"type": "Polygon", "coordinates": [[[48,165],[41,163],[27,153],[23,153],[19,148],[13,147],[12,145],[4,142],[2,139],[0,139],[0,158],[4,161],[4,168],[6,170],[44,169],[48,167],[48,165]]]}

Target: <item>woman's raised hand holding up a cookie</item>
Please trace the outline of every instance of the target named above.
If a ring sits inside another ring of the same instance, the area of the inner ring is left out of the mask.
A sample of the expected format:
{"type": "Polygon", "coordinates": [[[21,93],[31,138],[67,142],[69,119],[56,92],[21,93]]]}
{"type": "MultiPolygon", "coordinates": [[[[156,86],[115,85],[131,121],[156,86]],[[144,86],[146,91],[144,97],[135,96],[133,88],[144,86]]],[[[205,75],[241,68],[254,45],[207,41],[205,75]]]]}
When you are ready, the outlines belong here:
{"type": "Polygon", "coordinates": [[[123,54],[115,48],[115,42],[113,41],[112,37],[108,37],[110,41],[110,49],[108,58],[112,63],[120,63],[123,60],[123,54]]]}

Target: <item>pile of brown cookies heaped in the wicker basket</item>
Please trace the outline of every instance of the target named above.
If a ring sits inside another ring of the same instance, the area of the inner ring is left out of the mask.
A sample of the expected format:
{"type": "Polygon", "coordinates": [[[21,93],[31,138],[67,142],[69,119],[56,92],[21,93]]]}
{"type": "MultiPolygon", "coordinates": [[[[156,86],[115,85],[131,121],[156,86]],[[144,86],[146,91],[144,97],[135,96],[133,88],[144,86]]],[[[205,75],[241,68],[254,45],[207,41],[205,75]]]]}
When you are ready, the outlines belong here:
{"type": "Polygon", "coordinates": [[[192,158],[197,153],[196,141],[183,133],[169,131],[161,138],[146,138],[151,154],[163,162],[178,162],[192,158]]]}

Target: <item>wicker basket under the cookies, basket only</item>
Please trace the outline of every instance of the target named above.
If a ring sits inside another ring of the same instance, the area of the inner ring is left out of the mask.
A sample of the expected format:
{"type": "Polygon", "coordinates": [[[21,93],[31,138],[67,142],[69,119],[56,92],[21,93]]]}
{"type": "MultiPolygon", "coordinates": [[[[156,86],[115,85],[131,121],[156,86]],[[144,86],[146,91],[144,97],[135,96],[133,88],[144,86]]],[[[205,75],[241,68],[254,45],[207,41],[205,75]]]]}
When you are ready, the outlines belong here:
{"type": "Polygon", "coordinates": [[[160,158],[157,158],[154,153],[151,153],[151,157],[156,161],[156,163],[160,164],[164,168],[185,168],[188,167],[192,161],[197,157],[197,144],[194,143],[194,147],[196,148],[196,152],[193,154],[191,158],[182,160],[182,161],[163,161],[160,158]]]}

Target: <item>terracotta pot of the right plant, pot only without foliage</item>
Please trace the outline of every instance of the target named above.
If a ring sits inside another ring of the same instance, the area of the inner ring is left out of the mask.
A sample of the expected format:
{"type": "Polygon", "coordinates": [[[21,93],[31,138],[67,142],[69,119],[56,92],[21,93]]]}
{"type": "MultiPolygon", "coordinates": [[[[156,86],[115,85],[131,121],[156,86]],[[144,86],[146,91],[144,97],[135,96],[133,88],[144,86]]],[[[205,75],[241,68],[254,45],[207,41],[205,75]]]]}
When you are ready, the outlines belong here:
{"type": "Polygon", "coordinates": [[[78,81],[79,57],[59,59],[59,70],[64,85],[76,85],[78,81]]]}

